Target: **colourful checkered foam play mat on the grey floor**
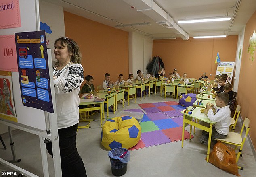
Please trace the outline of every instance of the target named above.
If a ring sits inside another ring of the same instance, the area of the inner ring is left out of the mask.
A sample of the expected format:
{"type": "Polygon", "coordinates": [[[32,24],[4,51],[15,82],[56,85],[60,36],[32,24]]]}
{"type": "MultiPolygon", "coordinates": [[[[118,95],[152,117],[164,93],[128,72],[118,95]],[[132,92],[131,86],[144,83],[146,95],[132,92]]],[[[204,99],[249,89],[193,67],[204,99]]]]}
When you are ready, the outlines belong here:
{"type": "MultiPolygon", "coordinates": [[[[157,146],[180,141],[182,136],[183,114],[185,109],[175,101],[139,104],[141,109],[127,109],[124,111],[143,112],[141,121],[141,140],[129,150],[157,146]]],[[[192,137],[193,138],[193,135],[192,137]]],[[[189,132],[185,130],[184,139],[189,139],[189,132]]]]}

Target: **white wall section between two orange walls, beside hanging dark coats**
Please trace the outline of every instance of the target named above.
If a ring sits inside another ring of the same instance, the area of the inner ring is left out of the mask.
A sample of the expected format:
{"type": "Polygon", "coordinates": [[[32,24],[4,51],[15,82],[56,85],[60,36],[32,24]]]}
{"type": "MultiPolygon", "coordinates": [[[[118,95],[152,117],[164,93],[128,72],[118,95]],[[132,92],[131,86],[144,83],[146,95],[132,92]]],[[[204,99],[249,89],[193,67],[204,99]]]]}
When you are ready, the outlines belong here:
{"type": "Polygon", "coordinates": [[[146,67],[152,60],[153,41],[139,33],[129,33],[129,72],[137,76],[137,70],[146,74],[146,67]]]}

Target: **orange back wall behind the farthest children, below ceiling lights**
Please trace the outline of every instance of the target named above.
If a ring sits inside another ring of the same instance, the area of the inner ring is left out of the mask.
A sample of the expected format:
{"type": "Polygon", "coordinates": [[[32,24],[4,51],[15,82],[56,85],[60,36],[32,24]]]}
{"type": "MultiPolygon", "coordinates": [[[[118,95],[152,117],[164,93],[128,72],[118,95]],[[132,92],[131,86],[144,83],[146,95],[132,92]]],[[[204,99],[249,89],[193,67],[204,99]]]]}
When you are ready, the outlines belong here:
{"type": "Polygon", "coordinates": [[[219,52],[221,61],[235,61],[237,36],[215,39],[181,38],[153,41],[153,56],[160,56],[164,62],[166,76],[177,68],[180,76],[186,72],[187,78],[199,78],[203,72],[210,79],[216,74],[214,64],[219,52]],[[212,74],[212,77],[210,77],[212,74]]]}

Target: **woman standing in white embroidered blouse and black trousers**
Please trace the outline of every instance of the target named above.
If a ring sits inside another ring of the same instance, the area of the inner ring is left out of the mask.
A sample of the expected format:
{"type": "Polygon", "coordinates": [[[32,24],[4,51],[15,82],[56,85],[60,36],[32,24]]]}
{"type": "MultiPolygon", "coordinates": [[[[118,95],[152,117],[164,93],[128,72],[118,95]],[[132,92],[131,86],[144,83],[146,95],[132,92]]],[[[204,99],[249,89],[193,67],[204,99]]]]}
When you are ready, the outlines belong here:
{"type": "MultiPolygon", "coordinates": [[[[53,82],[63,177],[87,177],[84,163],[76,148],[80,86],[84,81],[82,55],[75,41],[67,37],[56,39],[54,54],[58,60],[53,67],[53,82]]],[[[46,144],[52,155],[52,144],[46,144]]]]}

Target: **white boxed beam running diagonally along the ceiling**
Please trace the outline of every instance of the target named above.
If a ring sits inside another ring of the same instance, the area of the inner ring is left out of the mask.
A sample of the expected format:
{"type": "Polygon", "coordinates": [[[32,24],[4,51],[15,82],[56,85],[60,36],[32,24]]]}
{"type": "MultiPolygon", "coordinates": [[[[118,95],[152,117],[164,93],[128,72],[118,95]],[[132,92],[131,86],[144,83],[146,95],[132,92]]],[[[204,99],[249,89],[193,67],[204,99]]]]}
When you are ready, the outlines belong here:
{"type": "MultiPolygon", "coordinates": [[[[175,22],[174,19],[165,12],[160,6],[158,6],[153,0],[123,0],[130,6],[135,7],[138,9],[137,11],[147,15],[149,18],[153,19],[155,22],[166,22],[167,24],[172,25],[177,32],[180,33],[182,38],[189,39],[189,34],[181,29],[175,22]],[[147,10],[143,10],[147,9],[147,10]],[[150,10],[149,10],[150,9],[150,10]],[[151,10],[152,9],[152,10],[151,10]]],[[[169,25],[160,25],[167,27],[169,25]]],[[[169,26],[169,27],[170,27],[169,26]]]]}

